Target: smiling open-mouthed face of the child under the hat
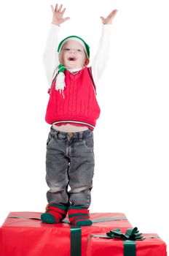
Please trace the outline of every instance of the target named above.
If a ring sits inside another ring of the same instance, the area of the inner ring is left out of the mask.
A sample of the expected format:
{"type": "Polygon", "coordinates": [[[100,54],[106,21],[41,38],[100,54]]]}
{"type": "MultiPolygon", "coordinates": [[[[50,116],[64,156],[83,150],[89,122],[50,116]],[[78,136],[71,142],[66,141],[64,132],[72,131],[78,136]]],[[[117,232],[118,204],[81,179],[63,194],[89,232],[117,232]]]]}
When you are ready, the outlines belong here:
{"type": "Polygon", "coordinates": [[[59,54],[59,61],[69,69],[79,69],[84,67],[86,53],[79,42],[68,40],[64,43],[59,54]]]}

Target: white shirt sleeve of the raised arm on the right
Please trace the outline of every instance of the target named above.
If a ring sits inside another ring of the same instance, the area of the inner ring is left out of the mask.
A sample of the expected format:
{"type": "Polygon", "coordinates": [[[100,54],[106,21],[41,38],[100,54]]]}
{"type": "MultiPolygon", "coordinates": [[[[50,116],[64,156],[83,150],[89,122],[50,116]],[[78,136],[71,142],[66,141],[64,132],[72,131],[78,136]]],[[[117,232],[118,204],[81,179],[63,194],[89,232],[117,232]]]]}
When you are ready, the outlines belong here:
{"type": "Polygon", "coordinates": [[[106,67],[106,62],[109,59],[109,52],[111,46],[111,24],[103,24],[101,38],[98,44],[98,51],[92,61],[93,79],[95,83],[103,75],[106,67]]]}

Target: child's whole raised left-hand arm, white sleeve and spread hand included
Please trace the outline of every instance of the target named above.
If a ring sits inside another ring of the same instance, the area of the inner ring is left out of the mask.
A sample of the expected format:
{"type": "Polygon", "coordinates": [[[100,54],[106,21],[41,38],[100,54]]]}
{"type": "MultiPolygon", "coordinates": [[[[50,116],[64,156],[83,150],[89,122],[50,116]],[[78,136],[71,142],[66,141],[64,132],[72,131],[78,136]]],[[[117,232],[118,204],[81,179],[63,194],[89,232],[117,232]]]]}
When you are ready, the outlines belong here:
{"type": "Polygon", "coordinates": [[[60,24],[69,20],[69,17],[63,18],[66,8],[63,9],[61,4],[54,7],[51,5],[52,9],[52,24],[50,26],[50,31],[47,35],[47,42],[43,54],[44,70],[47,76],[48,85],[52,83],[52,79],[55,75],[55,70],[58,67],[58,33],[60,31],[60,24]]]}

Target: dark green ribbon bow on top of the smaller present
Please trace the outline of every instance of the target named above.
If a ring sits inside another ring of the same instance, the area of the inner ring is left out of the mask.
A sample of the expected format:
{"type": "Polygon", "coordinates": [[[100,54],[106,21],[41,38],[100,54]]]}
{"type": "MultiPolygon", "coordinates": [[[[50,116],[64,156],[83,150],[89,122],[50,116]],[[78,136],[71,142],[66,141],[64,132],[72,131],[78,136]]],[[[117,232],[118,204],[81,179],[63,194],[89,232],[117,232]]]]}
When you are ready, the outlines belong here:
{"type": "Polygon", "coordinates": [[[110,232],[106,233],[109,238],[119,238],[122,240],[144,240],[144,237],[141,236],[142,233],[139,233],[139,230],[137,227],[128,228],[126,233],[123,234],[119,228],[116,230],[111,230],[110,232]]]}

